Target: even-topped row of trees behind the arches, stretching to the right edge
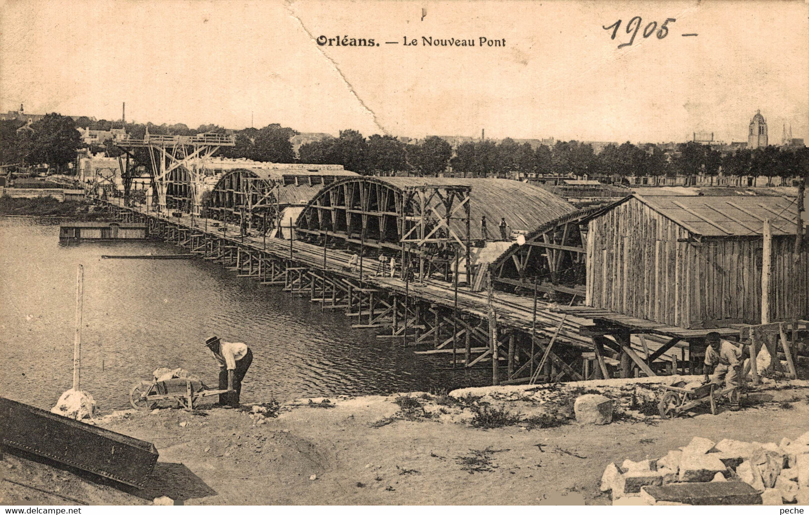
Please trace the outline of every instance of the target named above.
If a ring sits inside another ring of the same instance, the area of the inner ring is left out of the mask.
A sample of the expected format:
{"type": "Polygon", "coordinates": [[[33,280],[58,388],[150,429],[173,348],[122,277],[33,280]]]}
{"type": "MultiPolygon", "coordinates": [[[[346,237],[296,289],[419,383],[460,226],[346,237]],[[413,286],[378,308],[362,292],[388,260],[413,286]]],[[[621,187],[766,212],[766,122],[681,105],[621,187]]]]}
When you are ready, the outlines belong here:
{"type": "Polygon", "coordinates": [[[453,171],[473,177],[511,176],[515,173],[545,175],[803,175],[809,150],[768,146],[759,150],[725,152],[689,141],[674,150],[629,141],[609,144],[598,154],[590,144],[557,141],[553,146],[533,147],[511,138],[468,141],[453,151],[440,137],[428,137],[417,145],[405,145],[391,136],[375,134],[367,139],[355,130],[340,137],[301,146],[301,163],[341,164],[347,170],[372,175],[409,171],[435,175],[451,165],[453,171]]]}

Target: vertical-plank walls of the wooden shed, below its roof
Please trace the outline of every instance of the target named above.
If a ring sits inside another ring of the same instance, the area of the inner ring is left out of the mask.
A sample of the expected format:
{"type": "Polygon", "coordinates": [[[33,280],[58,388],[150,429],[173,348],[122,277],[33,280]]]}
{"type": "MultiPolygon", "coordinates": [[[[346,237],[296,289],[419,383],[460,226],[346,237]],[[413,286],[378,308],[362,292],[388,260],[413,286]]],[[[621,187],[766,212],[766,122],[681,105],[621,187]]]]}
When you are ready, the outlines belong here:
{"type": "MultiPolygon", "coordinates": [[[[590,306],[680,327],[760,323],[762,239],[678,242],[688,230],[635,199],[590,222],[590,306]]],[[[809,318],[809,257],[794,236],[773,237],[770,320],[809,318]]]]}

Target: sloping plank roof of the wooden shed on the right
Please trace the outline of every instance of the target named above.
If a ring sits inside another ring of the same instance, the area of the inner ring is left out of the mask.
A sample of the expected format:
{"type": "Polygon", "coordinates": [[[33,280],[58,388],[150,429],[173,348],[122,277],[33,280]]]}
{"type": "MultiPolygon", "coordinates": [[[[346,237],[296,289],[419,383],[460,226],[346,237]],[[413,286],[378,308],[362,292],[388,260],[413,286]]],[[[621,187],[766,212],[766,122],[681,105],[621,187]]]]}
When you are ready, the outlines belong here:
{"type": "Polygon", "coordinates": [[[755,236],[769,219],[773,236],[795,234],[798,205],[782,196],[632,196],[701,236],[755,236]]]}

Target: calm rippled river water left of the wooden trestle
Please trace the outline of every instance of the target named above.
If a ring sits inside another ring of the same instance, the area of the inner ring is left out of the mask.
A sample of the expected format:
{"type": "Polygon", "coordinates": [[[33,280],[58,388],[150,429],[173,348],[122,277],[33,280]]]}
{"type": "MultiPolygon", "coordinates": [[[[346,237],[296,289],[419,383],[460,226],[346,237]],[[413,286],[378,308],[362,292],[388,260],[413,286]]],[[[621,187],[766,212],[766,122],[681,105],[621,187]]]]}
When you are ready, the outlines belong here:
{"type": "Polygon", "coordinates": [[[133,383],[161,366],[218,384],[207,336],[244,341],[254,359],[244,403],[485,384],[401,342],[351,328],[342,312],[239,278],[205,260],[108,260],[169,254],[160,242],[58,242],[57,222],[0,217],[0,395],[50,408],[72,386],[76,268],[84,266],[81,387],[102,411],[129,406],[133,383]]]}

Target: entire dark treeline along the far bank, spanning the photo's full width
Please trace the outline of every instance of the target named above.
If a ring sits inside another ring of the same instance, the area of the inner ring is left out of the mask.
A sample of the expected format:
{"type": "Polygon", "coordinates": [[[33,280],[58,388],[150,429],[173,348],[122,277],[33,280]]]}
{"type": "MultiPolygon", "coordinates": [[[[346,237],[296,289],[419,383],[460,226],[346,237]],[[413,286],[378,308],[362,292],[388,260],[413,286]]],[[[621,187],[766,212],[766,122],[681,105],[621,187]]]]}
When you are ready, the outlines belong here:
{"type": "MultiPolygon", "coordinates": [[[[77,127],[109,130],[125,129],[129,137],[142,138],[146,132],[164,135],[229,133],[218,125],[200,125],[190,129],[184,124],[124,124],[108,120],[92,121],[51,113],[23,127],[16,120],[0,121],[0,163],[49,163],[61,167],[75,158],[83,141],[77,127]],[[22,129],[20,129],[23,127],[22,129]],[[19,129],[19,130],[18,130],[19,129]]],[[[722,153],[707,145],[689,141],[675,150],[659,146],[635,146],[629,141],[610,144],[598,154],[580,141],[557,141],[553,146],[532,147],[511,138],[499,143],[492,140],[468,141],[455,150],[440,137],[427,137],[417,145],[407,145],[392,136],[374,134],[364,137],[356,130],[340,131],[339,137],[307,143],[296,158],[291,137],[294,129],[278,124],[261,129],[243,129],[235,133],[235,146],[222,147],[218,154],[226,158],[248,158],[272,163],[341,164],[347,170],[374,175],[407,171],[413,175],[437,175],[448,165],[471,176],[510,176],[517,172],[546,175],[804,175],[809,150],[768,146],[758,150],[722,153]]],[[[93,146],[111,157],[121,154],[112,141],[93,146]]],[[[136,153],[137,154],[137,153],[136,153]]],[[[147,154],[140,153],[147,163],[147,154]]],[[[136,155],[137,157],[137,155],[136,155]]]]}

